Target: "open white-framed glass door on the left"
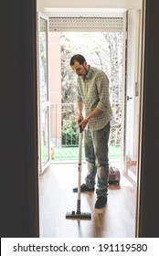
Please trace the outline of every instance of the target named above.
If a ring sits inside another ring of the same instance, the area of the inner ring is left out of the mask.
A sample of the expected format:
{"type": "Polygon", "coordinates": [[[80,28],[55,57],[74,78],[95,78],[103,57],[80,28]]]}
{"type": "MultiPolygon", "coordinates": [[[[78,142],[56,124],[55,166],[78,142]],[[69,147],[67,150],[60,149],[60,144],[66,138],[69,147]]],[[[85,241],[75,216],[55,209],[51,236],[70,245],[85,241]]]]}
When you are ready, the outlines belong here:
{"type": "Polygon", "coordinates": [[[50,101],[48,93],[48,17],[37,13],[38,73],[38,170],[42,174],[50,162],[50,101]]]}

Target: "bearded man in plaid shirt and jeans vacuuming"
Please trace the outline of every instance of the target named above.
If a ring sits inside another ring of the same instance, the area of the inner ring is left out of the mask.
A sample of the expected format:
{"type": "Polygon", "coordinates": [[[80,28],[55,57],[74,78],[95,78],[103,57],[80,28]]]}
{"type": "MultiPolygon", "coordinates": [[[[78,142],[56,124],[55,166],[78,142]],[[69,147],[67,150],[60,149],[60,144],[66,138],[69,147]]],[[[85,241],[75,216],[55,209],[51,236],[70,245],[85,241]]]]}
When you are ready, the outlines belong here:
{"type": "MultiPolygon", "coordinates": [[[[109,80],[103,71],[88,65],[86,59],[80,54],[74,55],[69,64],[78,75],[77,123],[82,130],[85,130],[84,148],[88,164],[86,184],[81,185],[80,192],[94,191],[97,176],[95,208],[103,208],[107,203],[108,142],[112,117],[109,80]],[[83,116],[84,108],[85,116],[83,116]]],[[[77,192],[78,187],[73,188],[73,191],[77,192]]]]}

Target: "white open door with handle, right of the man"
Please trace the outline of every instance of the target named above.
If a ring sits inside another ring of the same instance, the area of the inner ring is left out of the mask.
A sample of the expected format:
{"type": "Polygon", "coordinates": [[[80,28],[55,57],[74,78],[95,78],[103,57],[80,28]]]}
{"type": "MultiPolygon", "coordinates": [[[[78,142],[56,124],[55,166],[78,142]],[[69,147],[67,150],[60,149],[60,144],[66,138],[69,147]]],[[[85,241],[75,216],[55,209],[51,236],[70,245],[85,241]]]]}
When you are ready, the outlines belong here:
{"type": "Polygon", "coordinates": [[[123,29],[125,51],[122,93],[122,171],[136,181],[141,73],[141,10],[125,12],[123,29]]]}

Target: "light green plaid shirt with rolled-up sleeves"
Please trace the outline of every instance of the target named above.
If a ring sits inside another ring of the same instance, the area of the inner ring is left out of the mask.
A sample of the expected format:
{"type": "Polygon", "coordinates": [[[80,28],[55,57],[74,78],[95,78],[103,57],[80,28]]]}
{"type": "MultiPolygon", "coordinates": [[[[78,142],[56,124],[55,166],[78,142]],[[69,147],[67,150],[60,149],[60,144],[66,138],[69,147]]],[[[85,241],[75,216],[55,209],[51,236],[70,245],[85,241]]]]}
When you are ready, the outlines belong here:
{"type": "Polygon", "coordinates": [[[112,111],[109,98],[109,80],[102,70],[90,67],[84,80],[78,77],[77,101],[84,103],[86,116],[96,107],[102,111],[90,119],[88,129],[91,131],[101,130],[111,121],[112,111]]]}

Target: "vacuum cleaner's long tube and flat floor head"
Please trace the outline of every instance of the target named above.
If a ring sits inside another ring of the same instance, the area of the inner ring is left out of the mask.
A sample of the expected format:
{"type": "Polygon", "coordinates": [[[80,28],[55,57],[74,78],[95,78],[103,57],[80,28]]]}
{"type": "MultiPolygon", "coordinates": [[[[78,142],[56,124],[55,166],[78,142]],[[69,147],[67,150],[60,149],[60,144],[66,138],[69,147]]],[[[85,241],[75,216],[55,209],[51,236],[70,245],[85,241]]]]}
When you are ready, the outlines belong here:
{"type": "Polygon", "coordinates": [[[82,159],[82,127],[80,126],[79,133],[79,164],[78,164],[78,199],[77,199],[77,210],[67,212],[66,219],[91,219],[90,212],[80,211],[80,185],[81,185],[81,160],[82,159]]]}

